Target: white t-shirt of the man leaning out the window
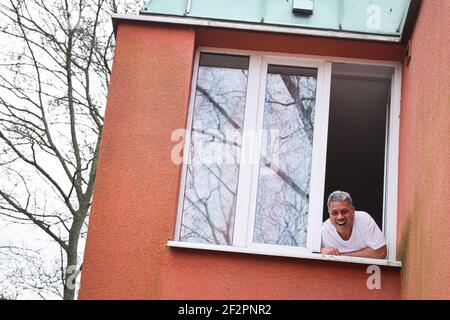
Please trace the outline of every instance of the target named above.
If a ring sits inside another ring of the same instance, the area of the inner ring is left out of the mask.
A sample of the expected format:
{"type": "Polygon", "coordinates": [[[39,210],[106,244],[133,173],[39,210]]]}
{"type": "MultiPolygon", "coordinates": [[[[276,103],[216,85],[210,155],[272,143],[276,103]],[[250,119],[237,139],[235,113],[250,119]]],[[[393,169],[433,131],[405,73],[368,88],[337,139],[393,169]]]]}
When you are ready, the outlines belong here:
{"type": "Polygon", "coordinates": [[[375,220],[364,211],[355,211],[352,235],[343,240],[330,219],[322,225],[322,247],[337,248],[340,253],[358,251],[367,247],[374,250],[386,245],[386,240],[375,220]]]}

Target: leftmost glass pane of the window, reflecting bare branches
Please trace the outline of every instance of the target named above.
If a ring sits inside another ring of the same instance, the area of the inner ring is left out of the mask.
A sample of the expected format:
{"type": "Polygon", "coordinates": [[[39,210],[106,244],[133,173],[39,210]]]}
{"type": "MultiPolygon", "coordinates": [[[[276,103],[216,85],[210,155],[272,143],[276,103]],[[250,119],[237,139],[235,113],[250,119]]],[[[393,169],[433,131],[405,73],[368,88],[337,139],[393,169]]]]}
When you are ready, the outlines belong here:
{"type": "Polygon", "coordinates": [[[201,54],[180,241],[232,245],[248,64],[201,54]]]}

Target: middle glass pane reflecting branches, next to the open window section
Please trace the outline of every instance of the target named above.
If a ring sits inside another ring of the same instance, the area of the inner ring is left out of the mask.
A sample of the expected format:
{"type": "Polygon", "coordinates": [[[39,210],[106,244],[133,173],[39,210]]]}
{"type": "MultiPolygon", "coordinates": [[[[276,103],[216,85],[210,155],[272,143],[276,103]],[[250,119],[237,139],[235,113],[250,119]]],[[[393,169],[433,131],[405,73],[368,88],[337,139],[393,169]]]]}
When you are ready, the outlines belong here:
{"type": "Polygon", "coordinates": [[[269,66],[254,242],[305,246],[317,70],[269,66]]]}

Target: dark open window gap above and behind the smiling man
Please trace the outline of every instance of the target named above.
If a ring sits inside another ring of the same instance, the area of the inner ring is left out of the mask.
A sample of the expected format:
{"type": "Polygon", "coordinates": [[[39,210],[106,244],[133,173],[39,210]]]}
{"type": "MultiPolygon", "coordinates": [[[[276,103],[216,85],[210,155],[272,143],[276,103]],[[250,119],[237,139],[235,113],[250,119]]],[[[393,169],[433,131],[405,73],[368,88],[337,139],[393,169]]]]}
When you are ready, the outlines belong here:
{"type": "MultiPolygon", "coordinates": [[[[348,191],[381,230],[393,73],[392,67],[337,63],[331,77],[325,195],[348,191]]],[[[324,209],[325,220],[325,203],[324,209]]]]}

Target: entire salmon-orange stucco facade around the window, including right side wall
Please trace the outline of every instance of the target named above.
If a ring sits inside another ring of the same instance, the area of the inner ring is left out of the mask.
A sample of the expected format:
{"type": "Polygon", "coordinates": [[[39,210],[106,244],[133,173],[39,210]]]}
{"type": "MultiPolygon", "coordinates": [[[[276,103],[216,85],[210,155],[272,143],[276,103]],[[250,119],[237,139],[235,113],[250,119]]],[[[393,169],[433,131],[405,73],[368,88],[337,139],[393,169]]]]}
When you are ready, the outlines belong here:
{"type": "Polygon", "coordinates": [[[171,134],[186,127],[198,46],[388,61],[401,61],[404,47],[120,22],[79,298],[442,297],[450,277],[443,192],[450,179],[450,67],[442,62],[450,61],[450,8],[439,3],[423,5],[404,70],[398,199],[404,266],[381,267],[380,290],[368,290],[363,264],[167,247],[181,177],[171,161],[171,134]]]}

